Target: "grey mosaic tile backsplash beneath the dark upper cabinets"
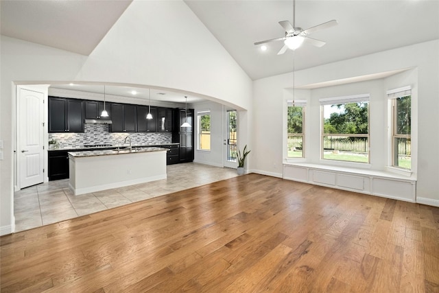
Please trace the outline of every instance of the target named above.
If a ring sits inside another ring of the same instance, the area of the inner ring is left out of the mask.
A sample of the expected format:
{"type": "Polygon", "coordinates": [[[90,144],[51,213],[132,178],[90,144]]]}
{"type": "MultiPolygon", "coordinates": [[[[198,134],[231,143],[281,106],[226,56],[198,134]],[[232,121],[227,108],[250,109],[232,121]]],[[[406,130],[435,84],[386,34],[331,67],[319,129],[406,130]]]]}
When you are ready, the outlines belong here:
{"type": "Polygon", "coordinates": [[[78,148],[97,143],[117,146],[123,145],[126,137],[131,138],[132,145],[172,142],[172,134],[168,132],[108,132],[106,124],[85,124],[84,133],[49,133],[49,141],[56,139],[60,148],[78,148]]]}

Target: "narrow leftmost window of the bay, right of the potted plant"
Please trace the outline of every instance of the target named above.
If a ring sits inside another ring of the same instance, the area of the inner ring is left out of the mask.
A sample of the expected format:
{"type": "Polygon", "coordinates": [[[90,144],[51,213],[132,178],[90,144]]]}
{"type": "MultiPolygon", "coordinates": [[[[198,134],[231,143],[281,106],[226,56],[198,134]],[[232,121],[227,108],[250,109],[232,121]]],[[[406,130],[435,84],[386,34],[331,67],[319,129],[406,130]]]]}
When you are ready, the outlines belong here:
{"type": "Polygon", "coordinates": [[[287,158],[303,158],[305,150],[304,116],[306,101],[287,101],[287,158]]]}

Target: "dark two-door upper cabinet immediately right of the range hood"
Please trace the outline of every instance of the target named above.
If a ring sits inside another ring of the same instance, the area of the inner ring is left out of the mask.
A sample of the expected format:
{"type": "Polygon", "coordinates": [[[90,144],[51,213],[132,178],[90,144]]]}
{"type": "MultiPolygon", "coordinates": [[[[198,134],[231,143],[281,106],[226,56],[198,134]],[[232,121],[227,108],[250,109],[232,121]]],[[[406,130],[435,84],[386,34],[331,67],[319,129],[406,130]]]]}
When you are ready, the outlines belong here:
{"type": "Polygon", "coordinates": [[[110,132],[137,131],[136,105],[112,103],[111,115],[110,132]]]}

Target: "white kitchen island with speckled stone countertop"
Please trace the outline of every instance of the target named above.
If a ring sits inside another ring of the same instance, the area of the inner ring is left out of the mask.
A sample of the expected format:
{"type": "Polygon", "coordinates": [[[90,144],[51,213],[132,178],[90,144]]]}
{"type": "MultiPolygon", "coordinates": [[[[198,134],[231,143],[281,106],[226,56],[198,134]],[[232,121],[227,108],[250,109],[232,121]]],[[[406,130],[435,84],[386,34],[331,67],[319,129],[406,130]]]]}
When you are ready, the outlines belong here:
{"type": "Polygon", "coordinates": [[[69,152],[69,188],[75,196],[166,179],[165,148],[69,152]]]}

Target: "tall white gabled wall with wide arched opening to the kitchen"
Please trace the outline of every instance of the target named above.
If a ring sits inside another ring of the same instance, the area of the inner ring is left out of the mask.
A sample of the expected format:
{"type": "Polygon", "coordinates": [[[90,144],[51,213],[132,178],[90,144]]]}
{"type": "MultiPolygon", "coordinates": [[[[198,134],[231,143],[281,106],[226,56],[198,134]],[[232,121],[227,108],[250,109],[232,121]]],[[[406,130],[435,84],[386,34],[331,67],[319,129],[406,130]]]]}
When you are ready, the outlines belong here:
{"type": "Polygon", "coordinates": [[[1,235],[14,229],[14,83],[140,84],[251,106],[252,81],[183,1],[133,1],[90,56],[6,36],[0,46],[1,235]]]}

